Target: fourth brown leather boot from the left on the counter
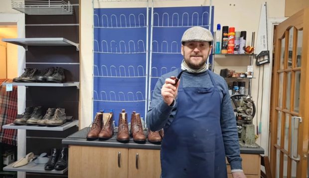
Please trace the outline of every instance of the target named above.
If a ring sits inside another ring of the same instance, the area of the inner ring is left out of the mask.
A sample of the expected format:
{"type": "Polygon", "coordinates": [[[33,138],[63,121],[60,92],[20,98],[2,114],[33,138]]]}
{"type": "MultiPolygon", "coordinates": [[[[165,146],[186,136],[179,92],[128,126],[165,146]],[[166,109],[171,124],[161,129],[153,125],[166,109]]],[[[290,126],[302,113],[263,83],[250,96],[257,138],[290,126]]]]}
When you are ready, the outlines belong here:
{"type": "Polygon", "coordinates": [[[131,116],[131,133],[135,142],[145,142],[146,136],[144,135],[141,116],[135,111],[132,112],[131,116]]]}

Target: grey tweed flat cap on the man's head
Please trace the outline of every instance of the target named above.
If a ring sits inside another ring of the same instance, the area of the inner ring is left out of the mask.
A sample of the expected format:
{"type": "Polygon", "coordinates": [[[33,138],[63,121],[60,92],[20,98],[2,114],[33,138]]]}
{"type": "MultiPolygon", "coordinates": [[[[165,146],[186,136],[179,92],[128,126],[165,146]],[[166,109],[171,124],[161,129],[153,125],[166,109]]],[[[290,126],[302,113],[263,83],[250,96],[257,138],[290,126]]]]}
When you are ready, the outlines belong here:
{"type": "Polygon", "coordinates": [[[200,27],[193,26],[184,31],[181,43],[186,41],[213,41],[213,36],[210,30],[200,27]]]}

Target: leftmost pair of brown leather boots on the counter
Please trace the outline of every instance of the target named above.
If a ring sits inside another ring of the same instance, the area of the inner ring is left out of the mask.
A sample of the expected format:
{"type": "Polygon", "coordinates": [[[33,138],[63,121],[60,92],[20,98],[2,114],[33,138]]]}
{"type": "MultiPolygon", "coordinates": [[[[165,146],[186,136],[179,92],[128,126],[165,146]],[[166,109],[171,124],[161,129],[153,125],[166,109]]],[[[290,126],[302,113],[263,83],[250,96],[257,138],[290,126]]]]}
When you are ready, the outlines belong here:
{"type": "Polygon", "coordinates": [[[87,134],[87,140],[106,140],[113,137],[113,112],[103,113],[103,111],[96,114],[94,123],[87,134]]]}

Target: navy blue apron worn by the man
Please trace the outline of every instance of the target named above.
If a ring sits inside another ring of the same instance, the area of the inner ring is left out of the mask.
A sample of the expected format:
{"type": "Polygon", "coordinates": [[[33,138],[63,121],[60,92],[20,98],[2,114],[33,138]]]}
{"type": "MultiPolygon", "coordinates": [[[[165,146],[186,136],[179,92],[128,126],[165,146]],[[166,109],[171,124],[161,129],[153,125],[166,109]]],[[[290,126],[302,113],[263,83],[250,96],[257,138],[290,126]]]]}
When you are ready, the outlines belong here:
{"type": "MultiPolygon", "coordinates": [[[[179,69],[180,72],[180,69],[179,69]]],[[[162,178],[227,178],[220,126],[220,90],[178,88],[176,116],[164,128],[161,145],[162,178]]]]}

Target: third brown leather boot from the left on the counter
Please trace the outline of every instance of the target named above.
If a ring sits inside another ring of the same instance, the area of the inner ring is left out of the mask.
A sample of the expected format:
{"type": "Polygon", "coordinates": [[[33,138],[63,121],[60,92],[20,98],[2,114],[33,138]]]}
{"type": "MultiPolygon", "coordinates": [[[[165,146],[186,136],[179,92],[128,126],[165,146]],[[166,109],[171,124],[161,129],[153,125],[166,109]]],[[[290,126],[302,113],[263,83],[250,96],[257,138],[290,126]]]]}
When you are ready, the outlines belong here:
{"type": "Polygon", "coordinates": [[[126,110],[124,109],[119,114],[117,140],[120,142],[127,142],[130,140],[129,126],[128,126],[128,114],[126,113],[126,110]]]}

